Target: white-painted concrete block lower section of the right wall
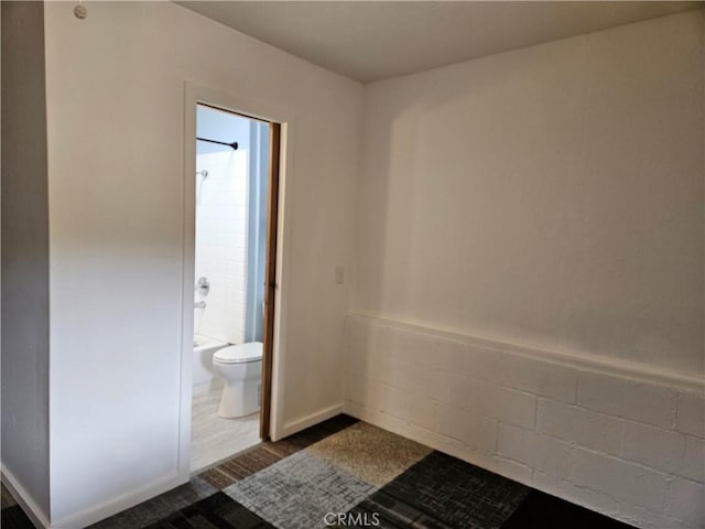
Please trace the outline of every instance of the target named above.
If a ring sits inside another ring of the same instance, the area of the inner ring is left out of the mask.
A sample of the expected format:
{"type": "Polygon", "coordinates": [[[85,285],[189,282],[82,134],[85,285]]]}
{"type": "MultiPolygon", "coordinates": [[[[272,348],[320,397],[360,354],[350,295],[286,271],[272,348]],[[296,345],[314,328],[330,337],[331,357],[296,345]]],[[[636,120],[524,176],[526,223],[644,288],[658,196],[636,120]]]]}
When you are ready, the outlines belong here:
{"type": "Polygon", "coordinates": [[[705,526],[703,382],[351,315],[345,411],[637,527],[705,526]]]}

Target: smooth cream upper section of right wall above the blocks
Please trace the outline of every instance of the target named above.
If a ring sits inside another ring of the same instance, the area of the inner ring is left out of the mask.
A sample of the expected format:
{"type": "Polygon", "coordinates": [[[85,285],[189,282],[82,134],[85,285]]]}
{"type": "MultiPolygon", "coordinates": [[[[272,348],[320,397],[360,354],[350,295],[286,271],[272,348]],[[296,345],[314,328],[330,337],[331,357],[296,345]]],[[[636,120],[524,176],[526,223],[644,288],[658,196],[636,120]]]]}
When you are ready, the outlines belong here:
{"type": "Polygon", "coordinates": [[[366,86],[356,311],[702,375],[702,17],[366,86]]]}

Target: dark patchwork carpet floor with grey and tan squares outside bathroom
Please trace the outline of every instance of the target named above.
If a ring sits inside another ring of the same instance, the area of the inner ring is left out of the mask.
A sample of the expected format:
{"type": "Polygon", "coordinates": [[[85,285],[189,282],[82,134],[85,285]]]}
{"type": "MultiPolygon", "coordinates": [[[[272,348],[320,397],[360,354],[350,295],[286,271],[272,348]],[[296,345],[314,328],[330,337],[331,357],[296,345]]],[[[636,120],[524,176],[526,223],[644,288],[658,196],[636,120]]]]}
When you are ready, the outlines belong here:
{"type": "MultiPolygon", "coordinates": [[[[2,487],[2,528],[32,523],[2,487]]],[[[263,443],[91,529],[626,529],[347,415],[263,443]]]]}

